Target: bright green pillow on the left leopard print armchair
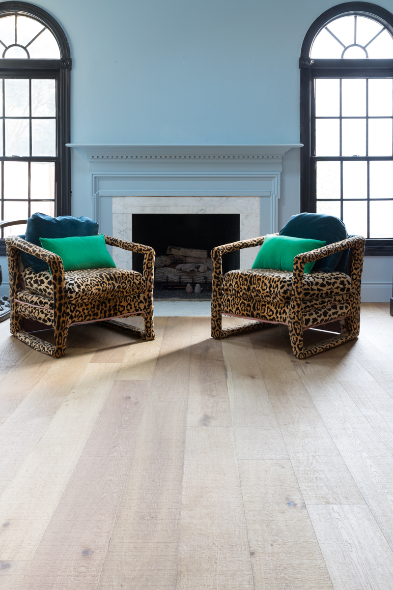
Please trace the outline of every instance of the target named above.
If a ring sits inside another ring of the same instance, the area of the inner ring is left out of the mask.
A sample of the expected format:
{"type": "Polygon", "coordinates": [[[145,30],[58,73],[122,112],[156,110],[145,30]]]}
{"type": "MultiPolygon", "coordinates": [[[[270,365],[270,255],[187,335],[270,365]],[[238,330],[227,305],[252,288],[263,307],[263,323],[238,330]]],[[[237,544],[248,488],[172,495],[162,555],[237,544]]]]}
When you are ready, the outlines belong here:
{"type": "Polygon", "coordinates": [[[104,234],[72,238],[39,238],[42,248],[58,254],[64,270],[116,268],[105,245],[104,234]]]}

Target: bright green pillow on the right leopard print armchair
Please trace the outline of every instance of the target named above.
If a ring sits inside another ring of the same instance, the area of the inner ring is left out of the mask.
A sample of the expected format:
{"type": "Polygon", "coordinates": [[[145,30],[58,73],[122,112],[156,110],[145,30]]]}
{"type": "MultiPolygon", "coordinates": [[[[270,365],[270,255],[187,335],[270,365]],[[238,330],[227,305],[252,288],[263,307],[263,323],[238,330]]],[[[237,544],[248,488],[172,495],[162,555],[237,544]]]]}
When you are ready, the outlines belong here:
{"type": "MultiPolygon", "coordinates": [[[[303,252],[322,248],[326,241],[292,238],[289,235],[267,235],[255,258],[253,268],[293,270],[293,258],[303,252]]],[[[315,262],[305,264],[305,274],[310,274],[315,262]]]]}

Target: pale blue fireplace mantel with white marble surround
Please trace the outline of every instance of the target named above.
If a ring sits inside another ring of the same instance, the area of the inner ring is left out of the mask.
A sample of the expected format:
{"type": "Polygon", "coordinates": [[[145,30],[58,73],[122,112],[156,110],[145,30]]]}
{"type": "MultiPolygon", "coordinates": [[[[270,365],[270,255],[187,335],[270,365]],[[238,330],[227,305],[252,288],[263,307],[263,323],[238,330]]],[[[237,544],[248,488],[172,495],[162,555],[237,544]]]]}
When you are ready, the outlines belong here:
{"type": "MultiPolygon", "coordinates": [[[[240,240],[278,231],[283,155],[302,144],[87,145],[93,217],[100,231],[132,241],[134,214],[239,214],[240,240]]],[[[181,245],[181,244],[174,244],[181,245]]],[[[250,268],[256,248],[240,251],[250,268]]],[[[132,268],[131,254],[113,249],[132,268]]]]}

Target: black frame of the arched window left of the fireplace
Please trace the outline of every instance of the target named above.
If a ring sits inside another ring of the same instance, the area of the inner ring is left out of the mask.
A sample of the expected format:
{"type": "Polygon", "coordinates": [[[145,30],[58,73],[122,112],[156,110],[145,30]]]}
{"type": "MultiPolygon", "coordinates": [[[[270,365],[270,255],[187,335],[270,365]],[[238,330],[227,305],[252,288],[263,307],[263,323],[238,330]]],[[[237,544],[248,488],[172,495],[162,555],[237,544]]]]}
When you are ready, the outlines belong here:
{"type": "MultiPolygon", "coordinates": [[[[57,156],[55,158],[4,157],[0,162],[56,160],[55,215],[71,214],[71,155],[65,146],[70,143],[70,46],[60,24],[44,9],[28,2],[1,2],[0,18],[14,14],[35,18],[54,35],[60,48],[60,59],[0,59],[0,78],[55,78],[57,107],[57,156]]],[[[0,256],[5,256],[5,240],[0,239],[0,256]]]]}

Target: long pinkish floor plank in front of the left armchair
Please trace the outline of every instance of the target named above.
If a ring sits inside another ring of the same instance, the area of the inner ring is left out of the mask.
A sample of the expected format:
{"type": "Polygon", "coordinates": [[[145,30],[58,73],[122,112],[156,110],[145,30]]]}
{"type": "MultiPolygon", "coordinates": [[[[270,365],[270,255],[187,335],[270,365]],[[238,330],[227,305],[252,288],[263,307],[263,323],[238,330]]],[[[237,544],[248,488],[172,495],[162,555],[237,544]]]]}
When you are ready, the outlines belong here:
{"type": "Polygon", "coordinates": [[[115,381],[21,590],[97,588],[149,388],[115,381]],[[60,562],[48,560],[53,552],[60,562]]]}

